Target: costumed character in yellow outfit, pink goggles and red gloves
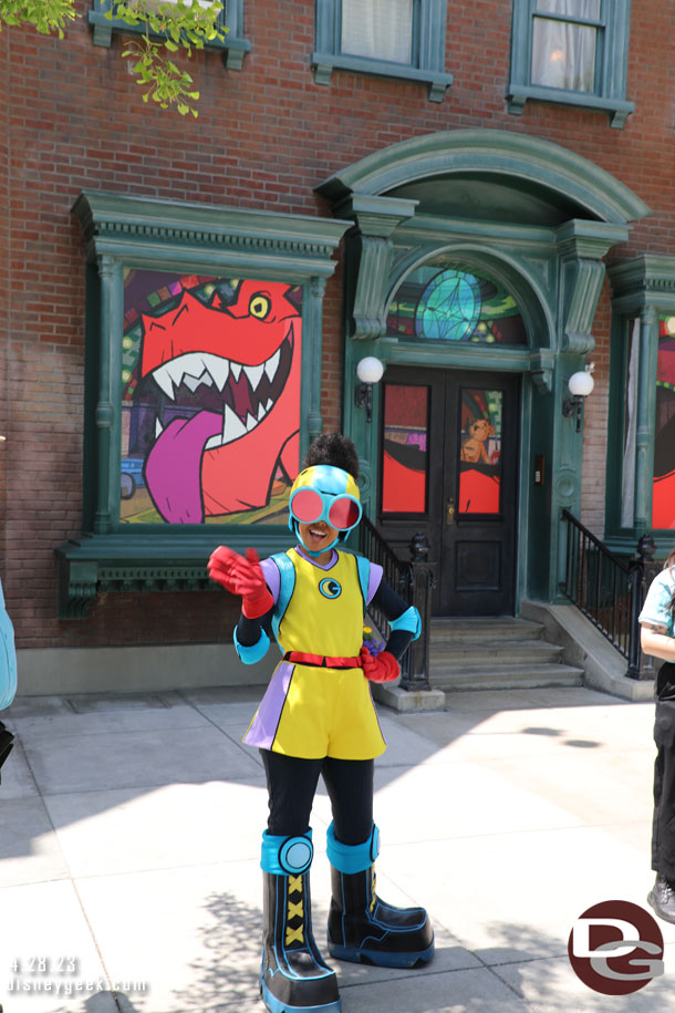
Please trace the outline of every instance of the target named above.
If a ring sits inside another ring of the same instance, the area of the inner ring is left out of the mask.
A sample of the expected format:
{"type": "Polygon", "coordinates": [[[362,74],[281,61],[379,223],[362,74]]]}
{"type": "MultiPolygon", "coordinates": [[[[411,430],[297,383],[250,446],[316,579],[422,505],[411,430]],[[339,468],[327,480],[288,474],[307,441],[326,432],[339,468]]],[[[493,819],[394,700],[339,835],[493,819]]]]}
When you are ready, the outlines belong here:
{"type": "Polygon", "coordinates": [[[289,527],[298,545],[262,561],[255,549],[242,557],[220,546],[208,565],[214,580],[242,597],[239,658],[259,661],[272,637],[283,654],[243,737],[260,750],[269,793],[260,992],[271,1013],[341,1009],[311,921],[309,820],[320,774],[333,816],[329,952],[388,968],[426,963],[434,953],[426,911],[392,907],[375,890],[374,758],[386,744],[370,683],[398,676],[398,659],[419,635],[419,614],[383,581],[380,566],[340,547],[361,519],[357,476],[353,443],[320,436],[291,488],[289,527]],[[363,644],[371,601],[391,627],[377,655],[363,644]]]}

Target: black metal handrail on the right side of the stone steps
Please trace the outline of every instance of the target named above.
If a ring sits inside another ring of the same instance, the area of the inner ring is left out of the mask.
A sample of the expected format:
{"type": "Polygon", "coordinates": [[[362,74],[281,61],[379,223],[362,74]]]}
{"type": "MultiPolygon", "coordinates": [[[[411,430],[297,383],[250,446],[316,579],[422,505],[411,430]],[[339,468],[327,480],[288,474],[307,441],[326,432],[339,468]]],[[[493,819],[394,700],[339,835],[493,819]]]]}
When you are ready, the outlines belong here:
{"type": "Polygon", "coordinates": [[[638,557],[624,562],[614,556],[569,510],[562,593],[600,630],[629,662],[631,679],[654,678],[652,659],[642,653],[637,617],[645,596],[645,578],[654,542],[643,537],[638,557]]]}

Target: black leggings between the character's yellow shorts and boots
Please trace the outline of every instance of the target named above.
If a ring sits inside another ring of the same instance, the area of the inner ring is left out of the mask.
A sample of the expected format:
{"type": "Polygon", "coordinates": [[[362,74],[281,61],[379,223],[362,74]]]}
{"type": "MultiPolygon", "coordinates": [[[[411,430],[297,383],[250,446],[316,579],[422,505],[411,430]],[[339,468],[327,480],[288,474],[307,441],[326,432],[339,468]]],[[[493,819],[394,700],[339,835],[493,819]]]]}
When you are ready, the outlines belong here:
{"type": "Polygon", "coordinates": [[[373,827],[372,759],[299,759],[270,750],[260,750],[260,755],[269,794],[269,834],[297,837],[308,831],[321,774],[331,799],[338,840],[355,845],[368,838],[373,827]]]}

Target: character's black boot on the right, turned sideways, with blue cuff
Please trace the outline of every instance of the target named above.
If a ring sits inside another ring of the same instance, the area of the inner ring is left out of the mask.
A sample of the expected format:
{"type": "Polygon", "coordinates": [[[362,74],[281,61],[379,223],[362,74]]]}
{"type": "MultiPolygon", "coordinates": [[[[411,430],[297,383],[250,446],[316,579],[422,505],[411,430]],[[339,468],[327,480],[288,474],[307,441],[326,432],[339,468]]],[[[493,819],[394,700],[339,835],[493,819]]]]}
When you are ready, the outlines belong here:
{"type": "Polygon", "coordinates": [[[414,968],[434,955],[434,930],[424,908],[395,908],[375,891],[377,828],[363,845],[350,847],[329,827],[328,855],[333,897],[329,952],[338,960],[383,968],[414,968]],[[357,866],[365,868],[354,871],[357,866]]]}

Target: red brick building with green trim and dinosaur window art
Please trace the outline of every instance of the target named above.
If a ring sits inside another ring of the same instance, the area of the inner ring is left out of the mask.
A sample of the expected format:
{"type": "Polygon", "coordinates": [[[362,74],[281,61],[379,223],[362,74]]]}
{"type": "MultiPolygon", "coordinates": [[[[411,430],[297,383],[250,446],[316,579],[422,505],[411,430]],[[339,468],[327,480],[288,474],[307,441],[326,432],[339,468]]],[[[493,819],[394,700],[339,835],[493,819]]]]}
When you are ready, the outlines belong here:
{"type": "Polygon", "coordinates": [[[0,34],[2,581],[23,692],[239,678],[204,566],[309,441],[438,614],[555,601],[569,509],[675,527],[675,70],[644,0],[230,0],[199,117],[106,0],[0,34]],[[183,358],[181,358],[183,356],[183,358]],[[372,418],[356,365],[386,366],[372,418]],[[594,364],[577,423],[568,380],[594,364]],[[224,674],[225,673],[225,674],[224,674]]]}

